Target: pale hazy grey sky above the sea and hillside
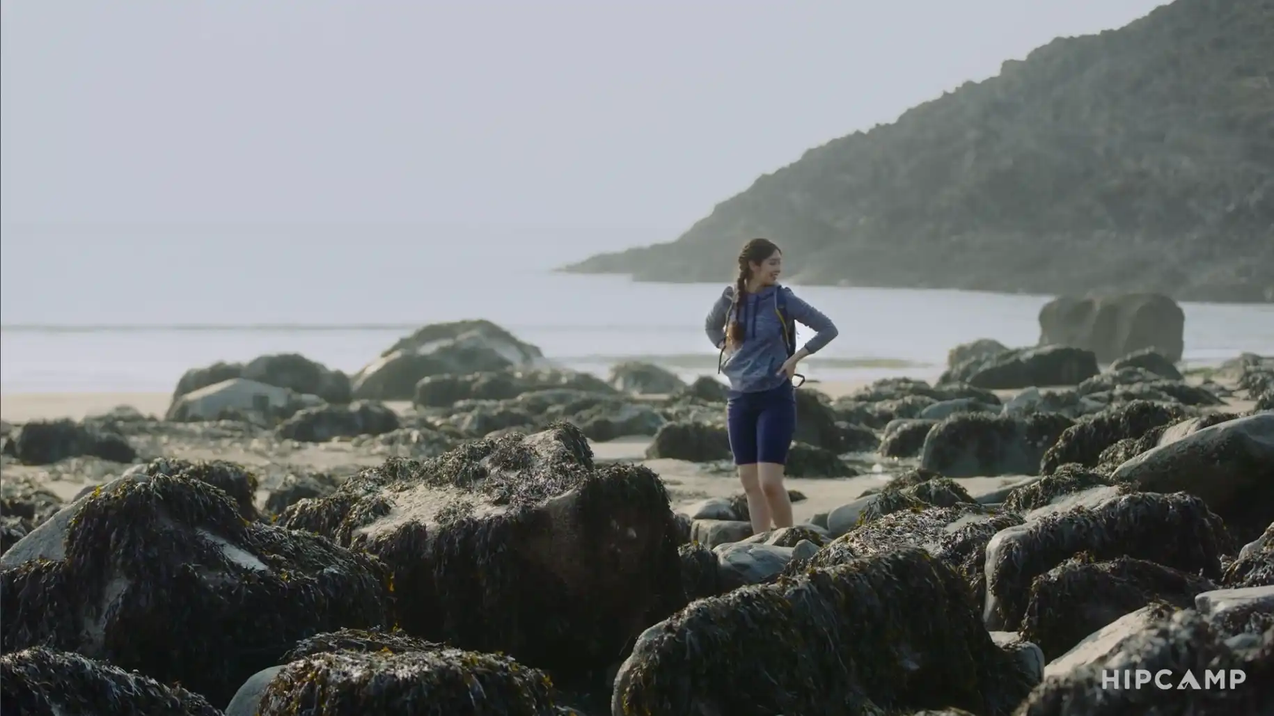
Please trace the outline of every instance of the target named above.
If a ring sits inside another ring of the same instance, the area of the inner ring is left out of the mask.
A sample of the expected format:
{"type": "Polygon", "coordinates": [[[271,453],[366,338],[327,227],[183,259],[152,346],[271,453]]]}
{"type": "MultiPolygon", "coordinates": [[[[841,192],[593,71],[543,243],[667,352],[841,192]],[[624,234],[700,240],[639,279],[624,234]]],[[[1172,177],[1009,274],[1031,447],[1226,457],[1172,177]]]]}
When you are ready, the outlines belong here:
{"type": "Polygon", "coordinates": [[[810,147],[1159,4],[4,1],[0,206],[671,240],[810,147]]]}

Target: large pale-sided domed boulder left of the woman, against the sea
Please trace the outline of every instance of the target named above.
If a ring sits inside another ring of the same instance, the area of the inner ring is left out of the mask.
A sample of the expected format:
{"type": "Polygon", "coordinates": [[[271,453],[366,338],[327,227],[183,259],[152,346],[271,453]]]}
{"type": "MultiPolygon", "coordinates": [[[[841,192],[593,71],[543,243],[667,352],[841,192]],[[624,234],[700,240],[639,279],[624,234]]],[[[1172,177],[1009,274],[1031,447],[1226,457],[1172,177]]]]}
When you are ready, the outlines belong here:
{"type": "Polygon", "coordinates": [[[364,400],[413,400],[420,378],[469,375],[544,363],[539,348],[490,321],[432,324],[400,339],[354,375],[352,392],[364,400]]]}

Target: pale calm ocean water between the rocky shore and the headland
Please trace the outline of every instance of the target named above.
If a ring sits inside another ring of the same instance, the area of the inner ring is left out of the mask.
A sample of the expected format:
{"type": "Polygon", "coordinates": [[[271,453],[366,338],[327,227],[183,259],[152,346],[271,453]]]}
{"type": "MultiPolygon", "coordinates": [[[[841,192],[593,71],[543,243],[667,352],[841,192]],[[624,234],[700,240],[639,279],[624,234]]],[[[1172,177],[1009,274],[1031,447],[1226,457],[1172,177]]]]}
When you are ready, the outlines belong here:
{"type": "MultiPolygon", "coordinates": [[[[340,240],[315,250],[289,241],[254,243],[242,232],[178,245],[154,236],[36,242],[31,233],[18,233],[28,240],[18,245],[10,236],[6,231],[0,283],[5,394],[168,392],[187,368],[283,352],[354,372],[417,327],[460,319],[494,321],[561,366],[603,376],[628,359],[688,378],[716,371],[703,319],[724,284],[553,273],[587,254],[578,240],[544,250],[506,234],[412,243],[382,237],[380,245],[340,240]],[[42,256],[43,266],[56,270],[43,269],[42,256]]],[[[827,381],[933,378],[952,347],[977,338],[1034,344],[1037,315],[1049,301],[789,285],[840,329],[803,371],[827,381]]],[[[1182,308],[1187,364],[1214,364],[1245,350],[1274,353],[1274,306],[1182,308]]]]}

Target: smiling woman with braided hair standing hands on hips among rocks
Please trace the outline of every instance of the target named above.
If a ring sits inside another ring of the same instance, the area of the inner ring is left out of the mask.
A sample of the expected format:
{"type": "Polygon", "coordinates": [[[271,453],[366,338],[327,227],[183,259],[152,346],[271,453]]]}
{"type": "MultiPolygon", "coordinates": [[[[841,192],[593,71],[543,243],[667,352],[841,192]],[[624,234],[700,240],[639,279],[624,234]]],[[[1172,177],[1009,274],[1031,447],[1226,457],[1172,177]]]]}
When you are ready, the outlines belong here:
{"type": "Polygon", "coordinates": [[[827,316],[778,285],[782,251],[754,238],[739,254],[739,278],[712,306],[705,329],[712,344],[729,354],[722,372],[730,378],[726,420],[730,451],[748,496],[752,531],[792,525],[792,505],[784,487],[784,464],[796,431],[796,364],[837,335],[827,316]],[[796,349],[796,325],[814,338],[796,349]]]}

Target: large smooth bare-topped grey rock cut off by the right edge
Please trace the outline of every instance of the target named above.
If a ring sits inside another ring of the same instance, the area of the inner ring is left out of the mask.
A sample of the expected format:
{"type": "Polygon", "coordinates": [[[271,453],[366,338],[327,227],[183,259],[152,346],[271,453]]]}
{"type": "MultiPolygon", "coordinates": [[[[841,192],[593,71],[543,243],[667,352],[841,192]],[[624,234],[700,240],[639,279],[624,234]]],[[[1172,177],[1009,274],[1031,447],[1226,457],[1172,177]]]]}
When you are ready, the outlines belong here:
{"type": "Polygon", "coordinates": [[[1224,517],[1240,539],[1274,521],[1274,414],[1226,420],[1162,443],[1111,479],[1148,492],[1186,490],[1224,517]]]}

